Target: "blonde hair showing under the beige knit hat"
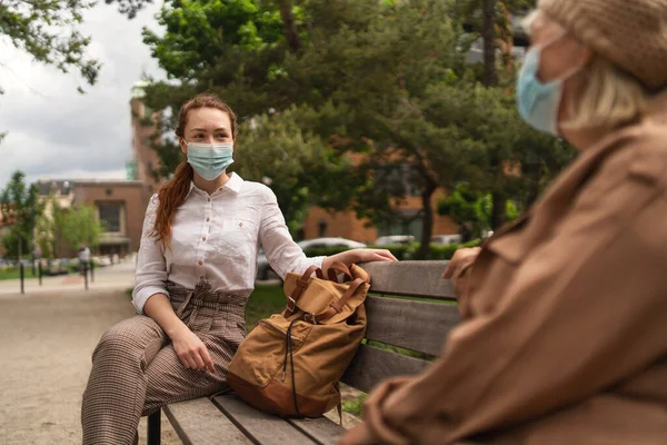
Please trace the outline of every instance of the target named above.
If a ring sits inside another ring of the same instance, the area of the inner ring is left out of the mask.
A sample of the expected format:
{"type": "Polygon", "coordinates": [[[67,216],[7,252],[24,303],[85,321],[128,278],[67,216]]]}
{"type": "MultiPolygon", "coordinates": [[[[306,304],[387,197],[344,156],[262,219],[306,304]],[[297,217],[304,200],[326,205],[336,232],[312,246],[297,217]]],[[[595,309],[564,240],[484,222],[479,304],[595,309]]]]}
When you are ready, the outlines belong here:
{"type": "MultiPolygon", "coordinates": [[[[540,10],[526,16],[522,27],[527,32],[538,19],[550,19],[540,10]]],[[[641,119],[651,96],[639,79],[618,68],[608,59],[594,53],[583,70],[587,82],[568,93],[568,120],[564,128],[618,128],[641,119]]]]}

